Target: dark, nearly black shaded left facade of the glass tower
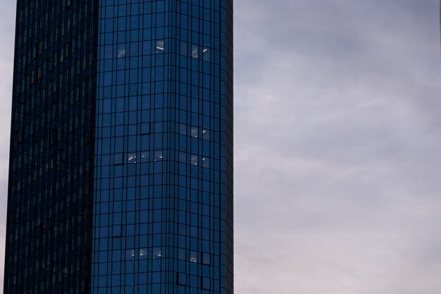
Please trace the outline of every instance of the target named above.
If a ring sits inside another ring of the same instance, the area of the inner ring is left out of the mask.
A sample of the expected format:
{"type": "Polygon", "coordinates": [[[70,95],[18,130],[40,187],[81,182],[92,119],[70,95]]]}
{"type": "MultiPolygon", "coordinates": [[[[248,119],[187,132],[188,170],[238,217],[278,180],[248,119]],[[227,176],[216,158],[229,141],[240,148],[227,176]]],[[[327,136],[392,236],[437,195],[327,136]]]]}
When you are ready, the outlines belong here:
{"type": "Polygon", "coordinates": [[[95,10],[18,1],[5,294],[89,293],[95,10]]]}

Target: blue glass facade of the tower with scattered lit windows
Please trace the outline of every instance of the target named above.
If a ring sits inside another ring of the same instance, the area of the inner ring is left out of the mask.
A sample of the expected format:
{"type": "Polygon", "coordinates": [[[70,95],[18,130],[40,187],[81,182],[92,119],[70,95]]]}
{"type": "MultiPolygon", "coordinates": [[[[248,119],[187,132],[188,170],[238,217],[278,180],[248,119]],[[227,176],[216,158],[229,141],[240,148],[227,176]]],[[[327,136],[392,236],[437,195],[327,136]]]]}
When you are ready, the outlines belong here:
{"type": "Polygon", "coordinates": [[[99,2],[93,293],[232,293],[231,5],[99,2]]]}

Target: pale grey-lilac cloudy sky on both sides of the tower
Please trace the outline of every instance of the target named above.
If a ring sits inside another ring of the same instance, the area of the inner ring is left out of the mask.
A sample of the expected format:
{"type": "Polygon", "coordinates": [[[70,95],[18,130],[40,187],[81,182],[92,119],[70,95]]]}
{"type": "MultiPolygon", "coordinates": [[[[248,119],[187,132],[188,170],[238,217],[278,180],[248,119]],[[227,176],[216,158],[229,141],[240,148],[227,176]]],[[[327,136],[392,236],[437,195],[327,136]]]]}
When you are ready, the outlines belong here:
{"type": "Polygon", "coordinates": [[[439,18],[438,0],[235,0],[236,293],[440,293],[439,18]]]}

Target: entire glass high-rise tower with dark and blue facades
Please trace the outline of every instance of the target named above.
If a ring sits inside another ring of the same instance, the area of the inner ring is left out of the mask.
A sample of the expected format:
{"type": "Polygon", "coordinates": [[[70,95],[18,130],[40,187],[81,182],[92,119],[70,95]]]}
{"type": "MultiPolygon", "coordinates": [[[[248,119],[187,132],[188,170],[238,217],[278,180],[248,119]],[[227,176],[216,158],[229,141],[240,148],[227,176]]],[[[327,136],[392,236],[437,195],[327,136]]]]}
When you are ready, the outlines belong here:
{"type": "Polygon", "coordinates": [[[18,0],[5,294],[232,294],[232,0],[18,0]]]}

